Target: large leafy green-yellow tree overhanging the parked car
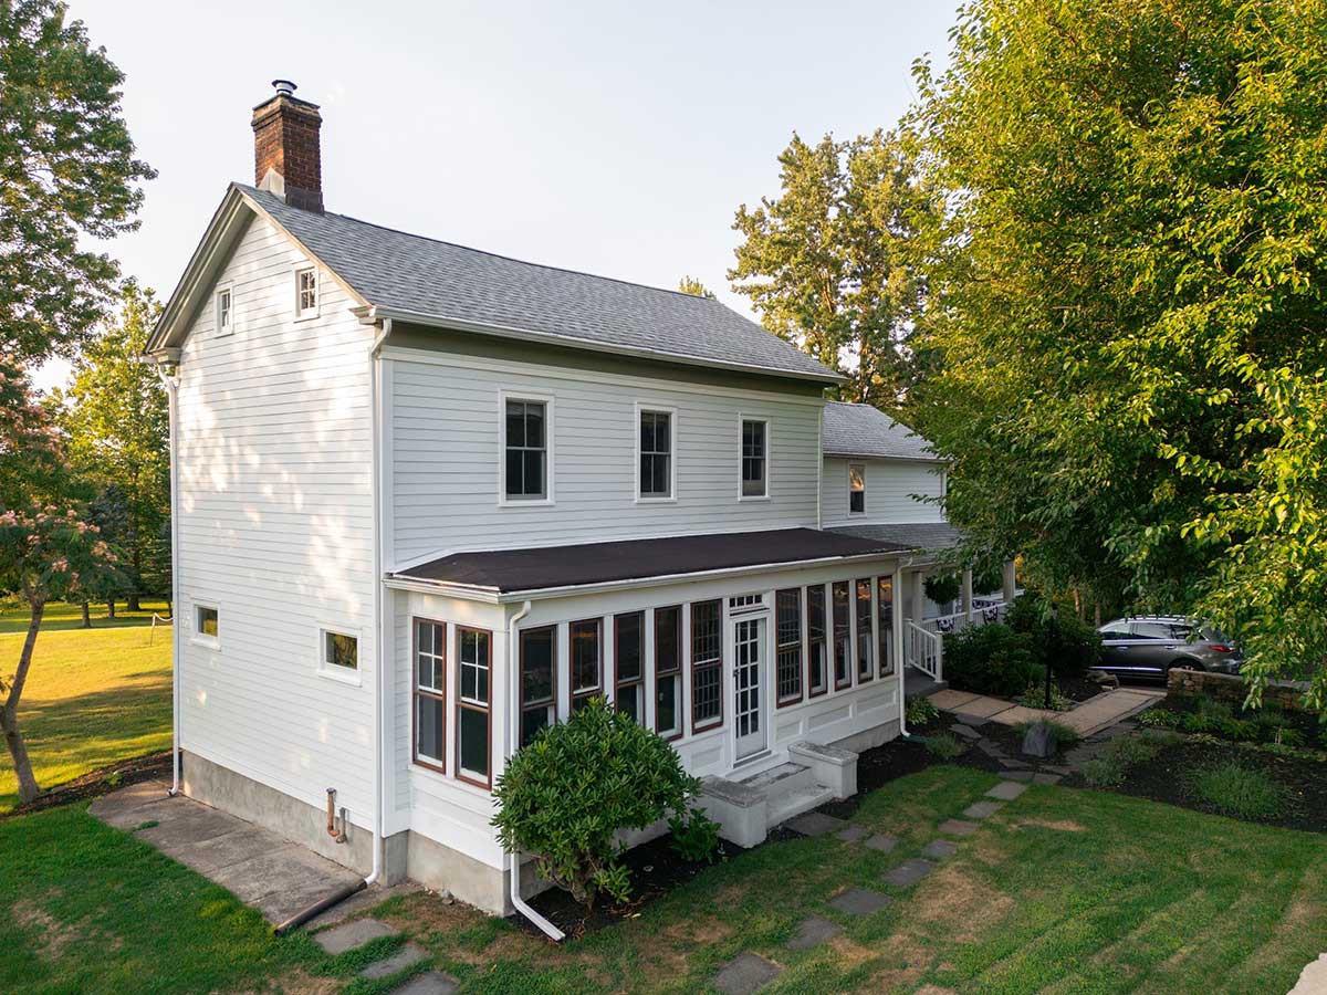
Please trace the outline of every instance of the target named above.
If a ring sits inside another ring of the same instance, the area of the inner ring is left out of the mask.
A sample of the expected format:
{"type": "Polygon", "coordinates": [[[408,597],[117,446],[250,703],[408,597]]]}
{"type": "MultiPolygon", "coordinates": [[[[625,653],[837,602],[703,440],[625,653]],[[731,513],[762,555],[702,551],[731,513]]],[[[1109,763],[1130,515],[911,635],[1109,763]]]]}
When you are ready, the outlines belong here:
{"type": "Polygon", "coordinates": [[[953,45],[912,122],[950,517],[1327,706],[1327,8],[975,0],[953,45]]]}

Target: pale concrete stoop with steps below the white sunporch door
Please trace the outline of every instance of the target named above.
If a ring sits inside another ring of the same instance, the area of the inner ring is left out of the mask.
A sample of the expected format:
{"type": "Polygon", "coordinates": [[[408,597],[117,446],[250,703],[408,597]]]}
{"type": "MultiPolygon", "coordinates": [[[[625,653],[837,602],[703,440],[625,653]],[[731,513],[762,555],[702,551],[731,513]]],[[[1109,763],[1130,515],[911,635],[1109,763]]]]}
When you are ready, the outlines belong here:
{"type": "Polygon", "coordinates": [[[857,754],[817,743],[794,743],[787,762],[739,780],[701,779],[701,805],[719,836],[746,848],[803,812],[856,793],[857,754]]]}

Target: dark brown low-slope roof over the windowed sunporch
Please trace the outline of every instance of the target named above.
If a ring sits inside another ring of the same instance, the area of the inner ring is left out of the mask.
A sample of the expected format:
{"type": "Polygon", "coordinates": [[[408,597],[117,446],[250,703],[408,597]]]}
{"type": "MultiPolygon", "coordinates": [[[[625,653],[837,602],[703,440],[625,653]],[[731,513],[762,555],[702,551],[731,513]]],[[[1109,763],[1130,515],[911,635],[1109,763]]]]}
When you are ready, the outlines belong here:
{"type": "Polygon", "coordinates": [[[718,532],[617,543],[453,553],[398,570],[402,580],[484,588],[500,594],[650,580],[750,566],[894,553],[897,543],[813,528],[718,532]]]}

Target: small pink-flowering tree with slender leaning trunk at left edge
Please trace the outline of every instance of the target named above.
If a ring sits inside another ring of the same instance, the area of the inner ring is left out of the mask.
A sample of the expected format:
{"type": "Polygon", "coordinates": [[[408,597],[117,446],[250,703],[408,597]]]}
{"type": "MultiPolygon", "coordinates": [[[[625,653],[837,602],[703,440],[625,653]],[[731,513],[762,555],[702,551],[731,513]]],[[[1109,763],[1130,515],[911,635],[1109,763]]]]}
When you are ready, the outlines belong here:
{"type": "Polygon", "coordinates": [[[77,490],[60,432],[33,402],[23,367],[0,357],[0,594],[28,605],[28,630],[13,674],[0,677],[0,731],[13,759],[20,801],[40,791],[19,727],[19,703],[32,667],[46,604],[104,589],[115,555],[66,495],[77,490]]]}

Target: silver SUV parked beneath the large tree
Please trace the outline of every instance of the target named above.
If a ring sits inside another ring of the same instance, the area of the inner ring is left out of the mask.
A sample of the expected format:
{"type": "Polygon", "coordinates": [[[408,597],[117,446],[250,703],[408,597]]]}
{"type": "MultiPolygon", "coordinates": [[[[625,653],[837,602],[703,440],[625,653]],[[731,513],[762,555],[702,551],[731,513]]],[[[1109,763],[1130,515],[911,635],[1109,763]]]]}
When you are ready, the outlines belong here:
{"type": "Polygon", "coordinates": [[[1116,618],[1101,634],[1101,662],[1093,670],[1119,677],[1162,678],[1170,667],[1237,674],[1239,649],[1221,633],[1180,616],[1116,618]]]}

